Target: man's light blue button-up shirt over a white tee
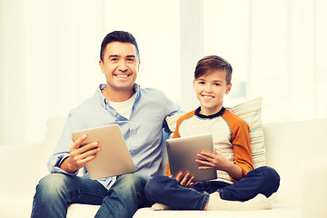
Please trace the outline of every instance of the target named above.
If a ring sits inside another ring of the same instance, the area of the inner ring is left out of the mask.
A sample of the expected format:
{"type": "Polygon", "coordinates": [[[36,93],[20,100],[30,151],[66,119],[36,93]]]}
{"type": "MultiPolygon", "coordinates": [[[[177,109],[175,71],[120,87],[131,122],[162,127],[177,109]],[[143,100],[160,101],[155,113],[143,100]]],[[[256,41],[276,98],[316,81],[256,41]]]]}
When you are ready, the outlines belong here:
{"type": "MultiPolygon", "coordinates": [[[[54,154],[48,162],[51,173],[67,173],[59,168],[60,164],[69,156],[69,149],[73,145],[71,136],[75,131],[99,127],[108,124],[118,124],[124,140],[134,161],[136,173],[146,177],[160,174],[160,163],[163,159],[162,138],[163,121],[167,115],[179,111],[179,107],[169,100],[163,92],[140,88],[134,84],[136,94],[130,119],[118,114],[104,98],[101,90],[105,84],[100,84],[93,96],[74,108],[68,115],[54,154]]],[[[67,174],[77,174],[67,173],[67,174]]],[[[84,168],[84,176],[88,176],[84,168]]],[[[104,187],[109,189],[116,177],[99,179],[104,187]]]]}

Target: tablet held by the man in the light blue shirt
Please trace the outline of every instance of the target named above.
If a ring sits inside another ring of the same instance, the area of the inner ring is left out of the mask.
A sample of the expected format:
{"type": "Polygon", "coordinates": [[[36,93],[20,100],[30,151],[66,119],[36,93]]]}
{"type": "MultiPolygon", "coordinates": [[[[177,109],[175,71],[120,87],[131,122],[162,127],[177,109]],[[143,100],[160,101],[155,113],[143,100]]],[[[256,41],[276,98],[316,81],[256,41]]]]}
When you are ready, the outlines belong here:
{"type": "Polygon", "coordinates": [[[73,140],[76,141],[83,134],[87,134],[83,144],[98,142],[101,148],[96,158],[85,164],[91,179],[135,172],[131,154],[117,124],[74,132],[73,140]]]}

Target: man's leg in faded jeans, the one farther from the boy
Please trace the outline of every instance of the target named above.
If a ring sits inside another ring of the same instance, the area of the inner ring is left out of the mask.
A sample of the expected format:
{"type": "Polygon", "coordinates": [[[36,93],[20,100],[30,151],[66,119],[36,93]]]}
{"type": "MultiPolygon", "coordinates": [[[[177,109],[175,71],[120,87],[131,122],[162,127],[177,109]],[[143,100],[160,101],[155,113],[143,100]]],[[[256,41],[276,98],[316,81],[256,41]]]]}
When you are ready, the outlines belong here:
{"type": "Polygon", "coordinates": [[[71,203],[101,204],[107,190],[89,178],[52,173],[37,185],[32,218],[65,218],[71,203]]]}

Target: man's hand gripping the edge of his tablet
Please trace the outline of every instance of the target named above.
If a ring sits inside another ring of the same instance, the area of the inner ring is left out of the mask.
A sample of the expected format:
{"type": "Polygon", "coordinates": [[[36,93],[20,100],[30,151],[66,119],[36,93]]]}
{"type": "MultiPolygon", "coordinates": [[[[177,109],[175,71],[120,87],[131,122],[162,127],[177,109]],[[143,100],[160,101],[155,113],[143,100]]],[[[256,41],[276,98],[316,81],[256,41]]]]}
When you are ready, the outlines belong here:
{"type": "Polygon", "coordinates": [[[69,149],[70,155],[60,165],[62,170],[67,173],[74,173],[76,170],[84,167],[85,163],[94,160],[96,154],[100,151],[99,144],[94,142],[81,146],[86,138],[87,135],[84,134],[74,142],[69,149]]]}

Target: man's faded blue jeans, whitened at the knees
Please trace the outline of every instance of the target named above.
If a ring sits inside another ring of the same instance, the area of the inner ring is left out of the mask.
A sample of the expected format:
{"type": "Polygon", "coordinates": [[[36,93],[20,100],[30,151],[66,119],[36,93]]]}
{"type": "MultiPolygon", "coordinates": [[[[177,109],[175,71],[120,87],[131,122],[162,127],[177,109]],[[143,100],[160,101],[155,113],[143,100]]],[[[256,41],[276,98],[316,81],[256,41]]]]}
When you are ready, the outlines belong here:
{"type": "Polygon", "coordinates": [[[139,174],[124,174],[107,190],[96,180],[52,173],[36,187],[31,217],[64,218],[71,203],[101,205],[95,217],[132,217],[139,207],[148,205],[146,183],[139,174]]]}

